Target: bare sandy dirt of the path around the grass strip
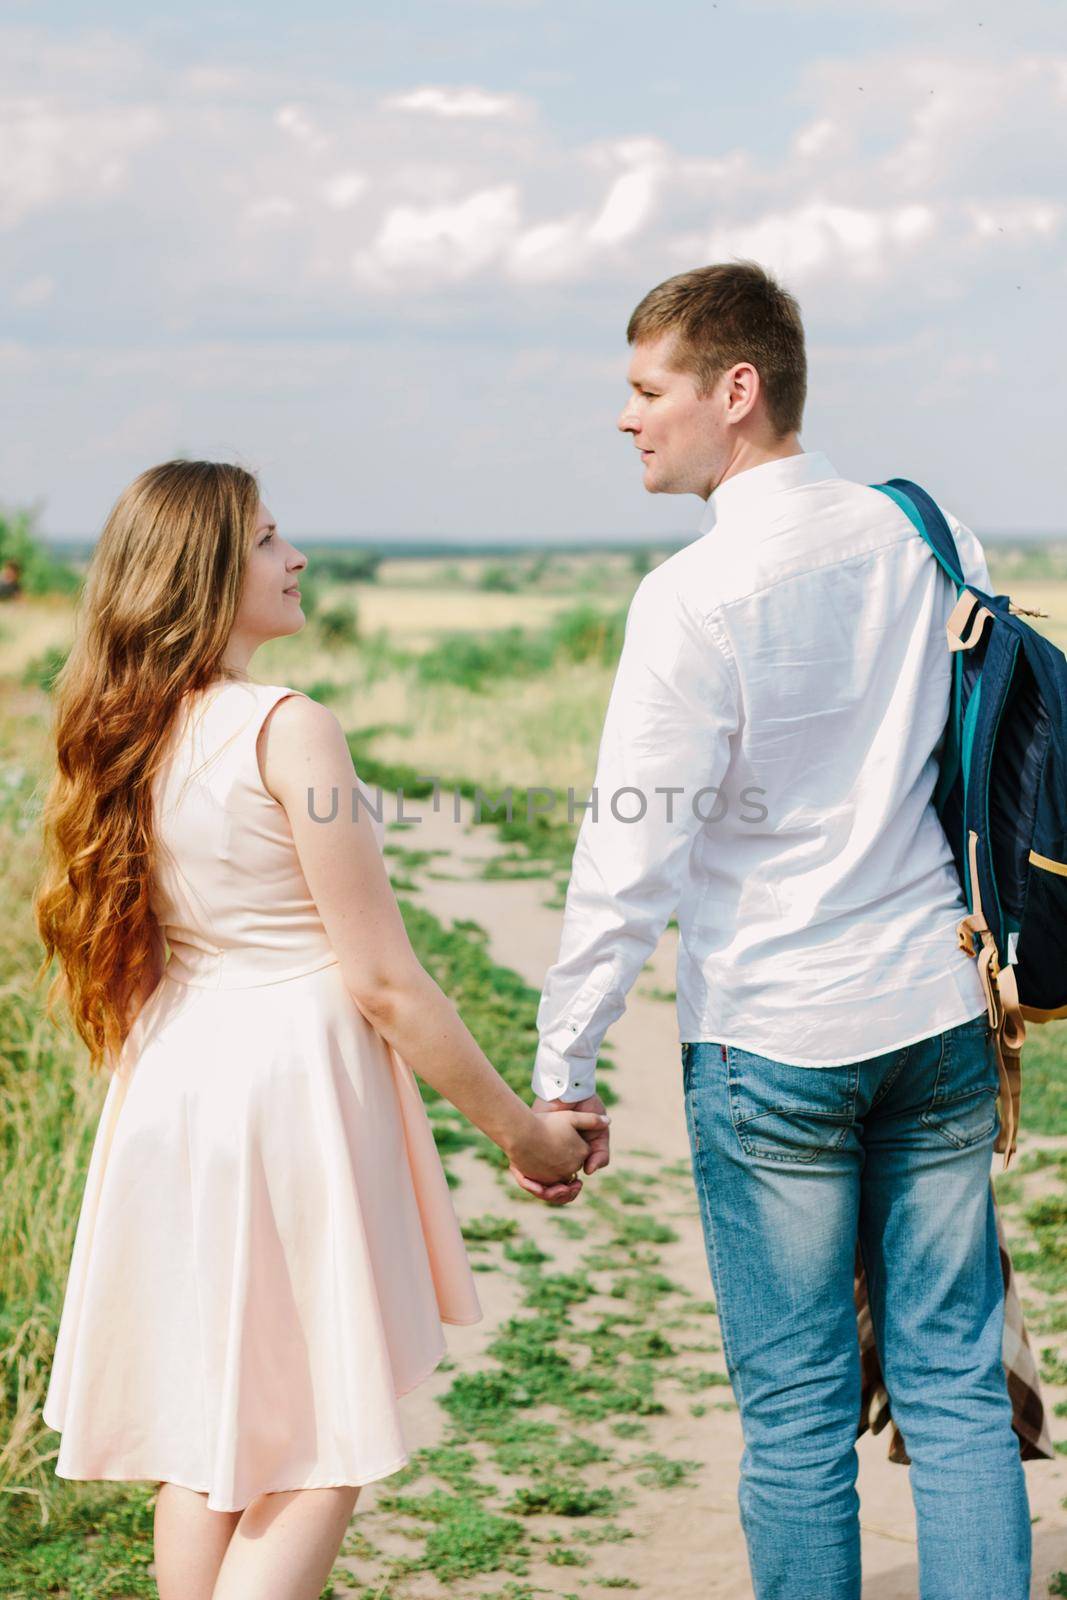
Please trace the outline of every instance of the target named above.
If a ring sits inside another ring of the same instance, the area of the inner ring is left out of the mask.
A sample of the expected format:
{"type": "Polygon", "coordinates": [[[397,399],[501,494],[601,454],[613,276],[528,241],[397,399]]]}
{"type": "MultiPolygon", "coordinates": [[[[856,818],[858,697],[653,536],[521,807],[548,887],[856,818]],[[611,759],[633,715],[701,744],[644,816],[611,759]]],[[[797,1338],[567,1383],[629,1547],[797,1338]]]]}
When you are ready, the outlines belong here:
{"type": "MultiPolygon", "coordinates": [[[[429,813],[429,806],[426,808],[429,813]]],[[[466,814],[466,813],[464,813],[466,814]]],[[[397,843],[416,850],[440,850],[429,869],[416,874],[418,890],[410,894],[445,923],[472,920],[488,934],[488,949],[494,962],[514,968],[526,982],[537,987],[545,970],[557,957],[560,936],[560,910],[549,909],[550,888],[547,880],[485,880],[478,877],[485,861],[501,853],[496,832],[490,827],[470,829],[456,826],[450,814],[442,813],[406,834],[390,830],[397,843]],[[435,874],[442,874],[437,877],[435,874]],[[448,877],[445,877],[448,874],[448,877]]],[[[677,1046],[673,1005],[649,995],[648,990],[673,989],[673,930],[661,941],[651,970],[637,982],[629,1006],[611,1029],[617,1070],[613,1085],[619,1104],[613,1107],[613,1171],[640,1173],[649,1166],[649,1152],[661,1162],[688,1162],[688,1139],[681,1106],[681,1080],[677,1046]],[[637,1066],[659,1062],[659,1093],[640,1099],[632,1090],[637,1066]]],[[[1048,1144],[1049,1141],[1037,1141],[1048,1144]]],[[[1057,1141],[1067,1146],[1065,1141],[1057,1141]]],[[[1025,1150],[1027,1141],[1021,1141],[1025,1150]]],[[[462,1187],[456,1206],[461,1219],[506,1210],[501,1179],[483,1163],[467,1162],[462,1168],[462,1187]]],[[[595,1186],[590,1181],[589,1189],[595,1186]]],[[[581,1218],[585,1195],[566,1214],[581,1218]]],[[[661,1197],[656,1197],[657,1208],[661,1197]]],[[[710,1278],[704,1259],[696,1198],[691,1182],[680,1176],[670,1194],[662,1197],[665,1214],[670,1216],[677,1238],[661,1250],[662,1270],[683,1285],[694,1302],[707,1302],[712,1296],[710,1278]]],[[[657,1210],[659,1214],[659,1210],[657,1210]]],[[[526,1206],[522,1211],[523,1229],[553,1254],[553,1269],[566,1269],[566,1240],[553,1221],[558,1213],[526,1206]]],[[[459,1371],[477,1371],[485,1363],[485,1349],[501,1322],[515,1307],[514,1283],[501,1274],[486,1272],[478,1278],[486,1318],[474,1328],[450,1330],[450,1350],[459,1371]]],[[[710,1314],[702,1317],[702,1336],[718,1347],[718,1323],[710,1314]]],[[[1038,1346],[1041,1339],[1035,1341],[1038,1346]]],[[[725,1374],[721,1354],[713,1357],[725,1374]]],[[[443,1413],[437,1405],[454,1373],[437,1374],[405,1405],[405,1426],[413,1446],[435,1443],[440,1438],[443,1413]]],[[[664,1416],[648,1418],[648,1437],[641,1448],[661,1451],[672,1458],[688,1458],[699,1462],[699,1470],[672,1491],[646,1490],[637,1493],[635,1504],[619,1518],[635,1534],[624,1547],[601,1555],[593,1552],[590,1568],[581,1573],[561,1573],[541,1562],[526,1576],[537,1594],[576,1594],[597,1582],[609,1587],[632,1587],[654,1597],[672,1600],[707,1600],[721,1595],[742,1600],[752,1594],[745,1558],[744,1536],[737,1520],[737,1461],[741,1454],[741,1427],[737,1413],[726,1408],[729,1389],[704,1390],[701,1400],[718,1398],[720,1406],[693,1406],[672,1403],[664,1416]],[[624,1571],[624,1582],[611,1573],[624,1571]]],[[[1046,1402],[1057,1397],[1046,1390],[1046,1402]]],[[[689,1397],[693,1398],[693,1397],[689,1397]]],[[[1061,1424],[1054,1419],[1054,1432],[1061,1424]]],[[[859,1442],[859,1493],[862,1504],[862,1560],[864,1597],[867,1600],[912,1600],[917,1594],[915,1517],[909,1493],[907,1467],[886,1459],[886,1435],[859,1442]]],[[[1048,1579],[1059,1568],[1067,1568],[1067,1518],[1061,1501],[1067,1493],[1067,1462],[1029,1462],[1027,1480],[1032,1514],[1035,1520],[1035,1581],[1033,1597],[1048,1594],[1048,1579]]],[[[373,1512],[376,1498],[387,1486],[371,1486],[365,1491],[362,1512],[373,1512]]],[[[357,1523],[363,1518],[357,1517],[357,1523]]],[[[374,1531],[379,1538],[379,1531],[374,1531]]],[[[389,1541],[386,1541],[389,1542],[389,1541]]],[[[358,1565],[358,1563],[357,1563],[358,1565]]],[[[498,1582],[474,1579],[450,1586],[450,1592],[462,1595],[504,1594],[498,1582]]],[[[405,1595],[437,1595],[432,1584],[405,1589],[405,1595]]]]}

